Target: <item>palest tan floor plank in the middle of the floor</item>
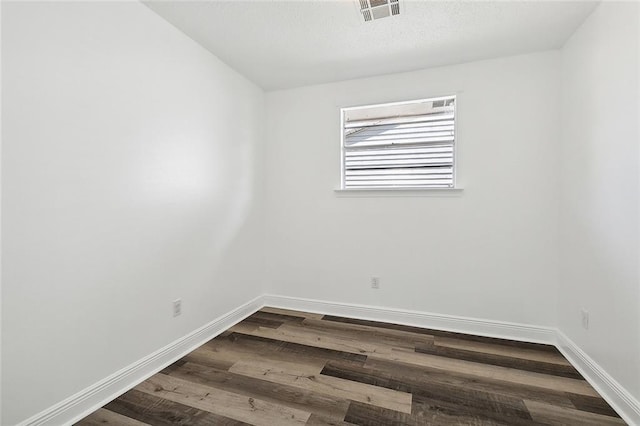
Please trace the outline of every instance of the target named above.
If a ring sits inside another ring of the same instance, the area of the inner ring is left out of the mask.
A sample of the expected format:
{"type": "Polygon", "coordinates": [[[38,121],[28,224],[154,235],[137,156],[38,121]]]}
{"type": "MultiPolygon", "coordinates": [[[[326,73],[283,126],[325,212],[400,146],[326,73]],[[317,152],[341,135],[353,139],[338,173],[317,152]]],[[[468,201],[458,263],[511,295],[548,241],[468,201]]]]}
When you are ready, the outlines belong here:
{"type": "Polygon", "coordinates": [[[411,395],[408,393],[323,376],[319,372],[309,374],[308,367],[303,364],[239,361],[229,371],[338,398],[411,412],[411,395]]]}

